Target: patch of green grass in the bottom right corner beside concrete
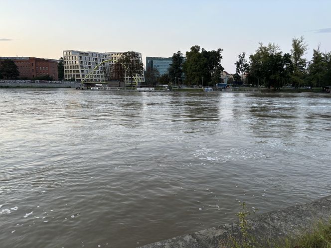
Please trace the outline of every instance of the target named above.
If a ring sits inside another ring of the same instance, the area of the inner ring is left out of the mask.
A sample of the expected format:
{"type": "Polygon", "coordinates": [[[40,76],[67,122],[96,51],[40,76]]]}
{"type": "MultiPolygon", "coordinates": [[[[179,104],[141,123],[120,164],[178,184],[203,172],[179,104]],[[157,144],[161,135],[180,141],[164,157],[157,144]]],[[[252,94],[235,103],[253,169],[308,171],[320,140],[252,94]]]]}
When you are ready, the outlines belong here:
{"type": "Polygon", "coordinates": [[[318,222],[311,233],[305,233],[300,237],[288,238],[275,248],[331,248],[331,219],[326,224],[318,222]]]}

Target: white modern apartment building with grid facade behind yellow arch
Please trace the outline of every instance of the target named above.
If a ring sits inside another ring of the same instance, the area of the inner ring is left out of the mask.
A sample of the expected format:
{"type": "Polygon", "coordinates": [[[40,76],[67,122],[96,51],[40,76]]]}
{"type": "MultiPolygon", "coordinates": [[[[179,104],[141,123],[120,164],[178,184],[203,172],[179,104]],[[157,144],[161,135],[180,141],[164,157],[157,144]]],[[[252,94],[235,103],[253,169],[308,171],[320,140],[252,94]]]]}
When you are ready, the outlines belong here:
{"type": "MultiPolygon", "coordinates": [[[[142,54],[136,52],[140,61],[142,61],[142,54]]],[[[63,51],[63,66],[64,66],[64,79],[75,79],[77,82],[82,82],[84,78],[92,72],[92,70],[105,60],[114,60],[105,62],[105,66],[115,64],[123,55],[123,52],[82,52],[76,50],[63,51]]],[[[142,71],[138,77],[139,82],[145,82],[144,72],[142,71]]],[[[98,67],[95,72],[88,76],[88,82],[106,82],[107,78],[104,75],[102,66],[98,67]]],[[[131,84],[131,78],[127,75],[124,76],[124,82],[131,84]]],[[[133,81],[135,82],[135,81],[133,81]]]]}

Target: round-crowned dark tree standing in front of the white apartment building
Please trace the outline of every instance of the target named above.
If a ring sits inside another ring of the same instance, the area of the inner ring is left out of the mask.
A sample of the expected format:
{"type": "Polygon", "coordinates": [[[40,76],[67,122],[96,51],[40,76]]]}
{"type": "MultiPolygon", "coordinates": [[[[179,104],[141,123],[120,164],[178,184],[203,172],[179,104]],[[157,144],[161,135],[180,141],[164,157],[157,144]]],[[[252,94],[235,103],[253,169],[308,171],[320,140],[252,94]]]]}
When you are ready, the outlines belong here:
{"type": "Polygon", "coordinates": [[[142,74],[144,64],[140,60],[138,54],[134,51],[124,52],[122,57],[118,60],[124,66],[125,73],[131,78],[131,86],[133,85],[133,77],[136,74],[142,74]]]}

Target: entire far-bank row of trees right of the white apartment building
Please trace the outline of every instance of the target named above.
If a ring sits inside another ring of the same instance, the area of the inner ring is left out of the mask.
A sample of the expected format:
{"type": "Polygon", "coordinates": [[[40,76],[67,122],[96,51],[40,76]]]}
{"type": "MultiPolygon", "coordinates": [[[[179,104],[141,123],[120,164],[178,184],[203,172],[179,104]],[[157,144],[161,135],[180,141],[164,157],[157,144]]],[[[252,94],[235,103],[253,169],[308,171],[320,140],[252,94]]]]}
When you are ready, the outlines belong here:
{"type": "MultiPolygon", "coordinates": [[[[290,52],[284,53],[275,43],[259,43],[248,61],[243,52],[235,62],[236,73],[228,83],[247,84],[279,89],[283,86],[323,87],[331,85],[331,52],[322,52],[320,45],[313,52],[313,58],[304,58],[308,44],[303,36],[292,39],[290,52]]],[[[223,49],[206,51],[200,46],[192,46],[185,56],[180,52],[172,55],[168,73],[160,76],[155,68],[145,74],[147,84],[172,85],[184,83],[188,86],[214,86],[222,83],[221,65],[223,49]]]]}

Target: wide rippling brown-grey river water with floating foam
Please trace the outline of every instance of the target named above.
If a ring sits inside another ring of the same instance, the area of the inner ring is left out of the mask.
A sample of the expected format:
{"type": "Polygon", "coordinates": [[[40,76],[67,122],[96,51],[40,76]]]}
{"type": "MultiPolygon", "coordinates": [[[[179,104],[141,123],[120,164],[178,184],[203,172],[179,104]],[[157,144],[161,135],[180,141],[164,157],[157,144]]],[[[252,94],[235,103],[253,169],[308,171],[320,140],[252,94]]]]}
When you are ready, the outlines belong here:
{"type": "Polygon", "coordinates": [[[0,244],[136,247],[330,194],[331,98],[0,90],[0,244]]]}

